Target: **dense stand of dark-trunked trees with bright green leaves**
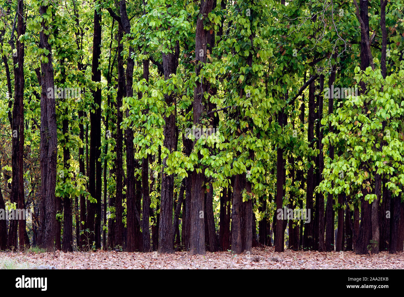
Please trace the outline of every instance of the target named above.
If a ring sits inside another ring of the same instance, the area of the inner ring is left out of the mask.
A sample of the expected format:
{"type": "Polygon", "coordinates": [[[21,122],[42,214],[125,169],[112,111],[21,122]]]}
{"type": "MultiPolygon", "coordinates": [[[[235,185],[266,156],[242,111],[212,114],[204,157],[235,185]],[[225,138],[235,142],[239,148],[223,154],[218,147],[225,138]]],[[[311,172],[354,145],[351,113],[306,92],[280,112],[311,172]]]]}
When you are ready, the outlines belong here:
{"type": "Polygon", "coordinates": [[[403,252],[403,9],[2,0],[0,251],[403,252]]]}

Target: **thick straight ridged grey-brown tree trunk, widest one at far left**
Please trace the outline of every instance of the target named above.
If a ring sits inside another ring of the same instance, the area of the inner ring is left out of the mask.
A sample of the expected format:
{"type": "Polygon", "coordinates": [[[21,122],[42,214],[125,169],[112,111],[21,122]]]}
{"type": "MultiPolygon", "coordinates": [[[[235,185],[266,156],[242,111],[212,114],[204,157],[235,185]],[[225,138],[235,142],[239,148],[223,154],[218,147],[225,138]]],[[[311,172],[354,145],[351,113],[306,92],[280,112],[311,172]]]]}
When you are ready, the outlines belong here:
{"type": "MultiPolygon", "coordinates": [[[[40,6],[39,14],[46,13],[48,6],[40,6]]],[[[53,251],[56,230],[56,161],[57,161],[57,124],[56,124],[56,101],[53,95],[48,96],[48,91],[54,94],[55,85],[53,80],[52,48],[48,43],[49,24],[42,19],[39,34],[40,48],[48,50],[45,63],[41,61],[41,140],[40,140],[40,169],[41,169],[41,224],[38,234],[40,247],[53,251]],[[50,98],[48,98],[50,97],[50,98]]]]}

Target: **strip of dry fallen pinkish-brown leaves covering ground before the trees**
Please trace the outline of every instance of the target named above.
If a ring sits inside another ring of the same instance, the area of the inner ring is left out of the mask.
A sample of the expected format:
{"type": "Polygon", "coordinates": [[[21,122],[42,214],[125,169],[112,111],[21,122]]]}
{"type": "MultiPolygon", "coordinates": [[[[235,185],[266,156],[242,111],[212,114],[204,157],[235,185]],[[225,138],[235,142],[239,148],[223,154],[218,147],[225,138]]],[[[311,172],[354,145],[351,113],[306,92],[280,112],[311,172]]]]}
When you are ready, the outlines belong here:
{"type": "Polygon", "coordinates": [[[217,252],[206,255],[73,252],[0,253],[1,268],[28,269],[392,269],[404,268],[404,253],[355,255],[349,252],[291,251],[275,253],[274,248],[253,248],[248,255],[217,252]]]}

